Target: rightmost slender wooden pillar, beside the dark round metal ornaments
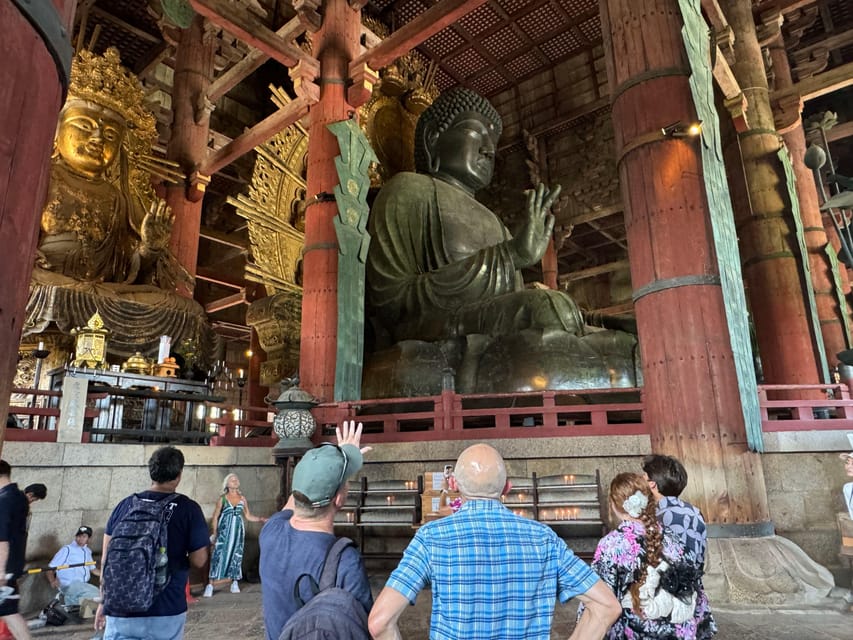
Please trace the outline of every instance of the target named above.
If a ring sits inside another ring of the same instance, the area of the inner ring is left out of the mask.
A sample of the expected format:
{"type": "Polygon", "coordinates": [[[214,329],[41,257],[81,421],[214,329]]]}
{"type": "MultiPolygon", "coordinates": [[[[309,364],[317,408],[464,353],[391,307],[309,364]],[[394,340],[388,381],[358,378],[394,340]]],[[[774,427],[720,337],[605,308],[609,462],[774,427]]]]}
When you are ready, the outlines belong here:
{"type": "MultiPolygon", "coordinates": [[[[769,20],[765,22],[765,26],[774,32],[767,49],[773,63],[776,91],[788,89],[794,84],[781,24],[781,17],[778,14],[770,16],[769,20]]],[[[802,111],[803,100],[798,94],[789,95],[773,104],[776,129],[782,135],[785,146],[788,148],[796,177],[797,200],[800,205],[803,235],[808,249],[821,336],[828,364],[831,368],[838,361],[838,352],[853,346],[850,344],[847,305],[845,304],[843,309],[839,305],[839,296],[843,299],[850,293],[850,281],[844,265],[838,263],[837,258],[830,259],[830,255],[827,253],[827,251],[831,251],[837,256],[840,240],[837,240],[837,244],[830,244],[830,236],[820,211],[820,200],[818,199],[814,175],[803,161],[807,143],[803,129],[802,111]]],[[[831,222],[827,224],[831,226],[831,222]]],[[[829,233],[837,239],[834,230],[829,233]]]]}

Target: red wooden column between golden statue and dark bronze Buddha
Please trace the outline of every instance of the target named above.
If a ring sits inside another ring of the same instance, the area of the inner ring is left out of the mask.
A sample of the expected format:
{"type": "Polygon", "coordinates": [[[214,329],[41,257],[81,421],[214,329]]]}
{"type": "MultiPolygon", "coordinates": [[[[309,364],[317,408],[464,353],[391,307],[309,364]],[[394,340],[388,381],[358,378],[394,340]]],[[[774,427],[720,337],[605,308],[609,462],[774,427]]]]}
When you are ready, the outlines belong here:
{"type": "Polygon", "coordinates": [[[338,335],[338,241],[332,222],[337,205],[332,192],[338,184],[334,158],[339,150],[326,125],[354,115],[346,82],[348,64],[358,52],[361,19],[347,0],[327,0],[323,9],[323,25],[313,37],[314,57],[320,61],[320,101],[309,113],[299,376],[303,389],[331,400],[338,335]]]}

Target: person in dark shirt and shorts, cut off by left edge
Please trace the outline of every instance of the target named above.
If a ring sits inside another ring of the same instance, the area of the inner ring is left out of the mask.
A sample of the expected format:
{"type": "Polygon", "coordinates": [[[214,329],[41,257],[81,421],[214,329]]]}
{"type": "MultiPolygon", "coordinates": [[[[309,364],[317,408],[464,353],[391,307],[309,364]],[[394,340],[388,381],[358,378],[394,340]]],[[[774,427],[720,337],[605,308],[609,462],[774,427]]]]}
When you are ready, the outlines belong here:
{"type": "Polygon", "coordinates": [[[30,638],[27,622],[18,613],[17,583],[24,573],[29,510],[27,497],[12,482],[12,467],[0,460],[0,618],[15,640],[30,638]]]}

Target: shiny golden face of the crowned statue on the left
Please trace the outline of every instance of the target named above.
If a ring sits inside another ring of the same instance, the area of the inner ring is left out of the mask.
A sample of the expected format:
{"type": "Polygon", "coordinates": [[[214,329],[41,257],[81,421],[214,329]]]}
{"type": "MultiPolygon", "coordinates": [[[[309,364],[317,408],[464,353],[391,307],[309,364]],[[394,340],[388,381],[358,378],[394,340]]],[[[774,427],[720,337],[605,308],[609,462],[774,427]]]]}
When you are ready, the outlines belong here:
{"type": "Polygon", "coordinates": [[[66,106],[60,116],[56,147],[69,167],[98,177],[115,162],[124,130],[124,120],[114,111],[78,100],[66,106]]]}

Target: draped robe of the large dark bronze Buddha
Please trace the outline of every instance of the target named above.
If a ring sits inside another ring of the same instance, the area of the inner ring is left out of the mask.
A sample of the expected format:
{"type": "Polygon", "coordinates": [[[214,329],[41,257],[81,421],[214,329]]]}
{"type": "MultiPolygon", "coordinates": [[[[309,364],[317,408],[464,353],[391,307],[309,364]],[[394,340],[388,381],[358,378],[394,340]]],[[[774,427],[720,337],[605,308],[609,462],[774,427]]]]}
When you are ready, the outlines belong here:
{"type": "Polygon", "coordinates": [[[369,226],[368,305],[393,340],[583,333],[565,293],[524,289],[509,230],[462,189],[399,173],[379,192],[369,226]]]}

